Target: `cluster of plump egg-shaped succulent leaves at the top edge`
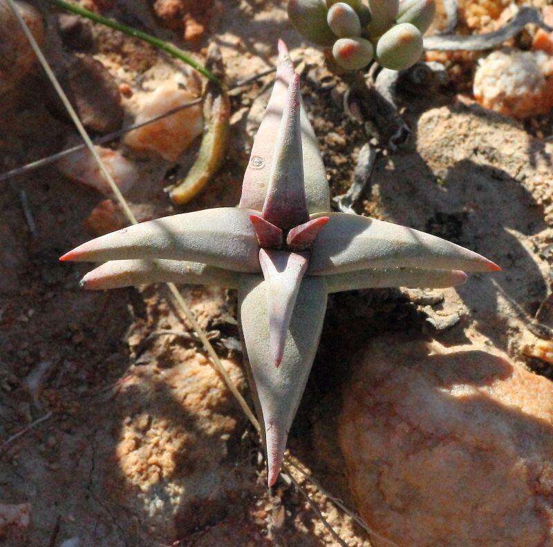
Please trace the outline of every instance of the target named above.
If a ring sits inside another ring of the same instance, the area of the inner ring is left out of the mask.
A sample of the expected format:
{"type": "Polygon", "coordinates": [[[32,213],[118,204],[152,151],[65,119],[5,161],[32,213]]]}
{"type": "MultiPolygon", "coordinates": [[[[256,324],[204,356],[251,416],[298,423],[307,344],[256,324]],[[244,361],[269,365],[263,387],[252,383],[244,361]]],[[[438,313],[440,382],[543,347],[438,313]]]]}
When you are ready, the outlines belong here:
{"type": "Polygon", "coordinates": [[[392,70],[415,64],[435,0],[367,1],[368,6],[363,0],[289,0],[288,16],[303,37],[332,46],[335,61],[346,70],[364,68],[373,57],[392,70]]]}

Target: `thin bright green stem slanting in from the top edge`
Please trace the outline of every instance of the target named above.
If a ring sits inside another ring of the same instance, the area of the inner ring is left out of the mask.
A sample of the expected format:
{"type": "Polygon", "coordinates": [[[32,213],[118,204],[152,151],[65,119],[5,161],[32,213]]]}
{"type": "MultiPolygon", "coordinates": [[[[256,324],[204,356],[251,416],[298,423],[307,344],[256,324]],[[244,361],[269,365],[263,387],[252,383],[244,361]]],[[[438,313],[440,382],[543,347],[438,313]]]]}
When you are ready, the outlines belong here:
{"type": "Polygon", "coordinates": [[[86,19],[91,19],[91,21],[94,21],[95,23],[100,23],[102,25],[115,28],[115,30],[120,30],[121,32],[124,32],[126,35],[133,36],[135,38],[140,38],[141,40],[148,42],[148,44],[151,44],[152,46],[155,46],[156,48],[159,48],[160,50],[163,50],[169,53],[169,55],[171,55],[172,57],[175,57],[176,59],[180,59],[186,64],[189,64],[192,68],[195,68],[196,70],[198,70],[199,73],[203,74],[206,78],[209,78],[220,88],[223,88],[223,84],[218,79],[218,77],[216,77],[213,73],[207,70],[205,66],[200,65],[197,61],[194,61],[194,59],[189,57],[189,55],[187,55],[180,48],[177,48],[176,46],[169,44],[169,42],[160,40],[155,36],[147,34],[147,32],[142,32],[142,30],[138,30],[131,26],[126,26],[122,23],[118,23],[117,21],[113,21],[112,19],[108,19],[107,17],[102,17],[102,15],[98,15],[97,13],[86,10],[85,8],[81,8],[81,6],[76,6],[74,3],[66,2],[65,0],[50,0],[50,1],[54,3],[56,6],[58,6],[59,8],[63,8],[64,10],[68,10],[72,13],[75,13],[75,15],[82,15],[82,17],[86,17],[86,19]]]}

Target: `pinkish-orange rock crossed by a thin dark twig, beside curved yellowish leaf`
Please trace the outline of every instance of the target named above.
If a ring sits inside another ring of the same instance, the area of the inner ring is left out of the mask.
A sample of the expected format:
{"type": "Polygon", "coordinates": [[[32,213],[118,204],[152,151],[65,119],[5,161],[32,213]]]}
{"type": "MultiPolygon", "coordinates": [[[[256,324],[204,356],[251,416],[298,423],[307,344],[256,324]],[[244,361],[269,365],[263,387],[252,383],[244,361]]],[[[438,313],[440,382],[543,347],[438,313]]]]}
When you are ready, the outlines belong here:
{"type": "MultiPolygon", "coordinates": [[[[167,82],[144,97],[135,122],[146,122],[193,99],[196,97],[189,91],[178,88],[173,82],[167,82]]],[[[202,133],[202,129],[202,107],[196,104],[131,131],[124,142],[135,151],[155,153],[174,162],[202,133]]]]}

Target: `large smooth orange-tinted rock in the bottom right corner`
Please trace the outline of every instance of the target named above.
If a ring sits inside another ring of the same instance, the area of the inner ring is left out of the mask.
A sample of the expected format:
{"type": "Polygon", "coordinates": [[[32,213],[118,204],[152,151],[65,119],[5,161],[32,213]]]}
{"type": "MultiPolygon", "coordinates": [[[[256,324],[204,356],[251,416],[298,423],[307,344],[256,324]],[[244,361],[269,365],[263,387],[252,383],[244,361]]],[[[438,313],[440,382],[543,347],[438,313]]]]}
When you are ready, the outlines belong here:
{"type": "Polygon", "coordinates": [[[359,512],[398,546],[537,547],[552,419],[553,384],[501,354],[384,338],[355,365],[339,442],[359,512]]]}

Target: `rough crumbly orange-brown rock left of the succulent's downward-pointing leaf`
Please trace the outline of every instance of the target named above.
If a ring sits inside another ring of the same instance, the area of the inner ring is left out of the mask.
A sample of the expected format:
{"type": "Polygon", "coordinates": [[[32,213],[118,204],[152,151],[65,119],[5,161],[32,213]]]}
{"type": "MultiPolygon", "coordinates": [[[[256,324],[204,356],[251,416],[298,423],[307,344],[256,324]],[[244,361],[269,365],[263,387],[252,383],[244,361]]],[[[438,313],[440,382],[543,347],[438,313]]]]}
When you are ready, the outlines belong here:
{"type": "MultiPolygon", "coordinates": [[[[110,490],[164,542],[221,520],[227,495],[239,491],[227,451],[241,414],[207,359],[187,355],[170,369],[135,367],[118,394],[122,482],[110,490]]],[[[223,365],[243,387],[236,363],[223,365]]]]}

